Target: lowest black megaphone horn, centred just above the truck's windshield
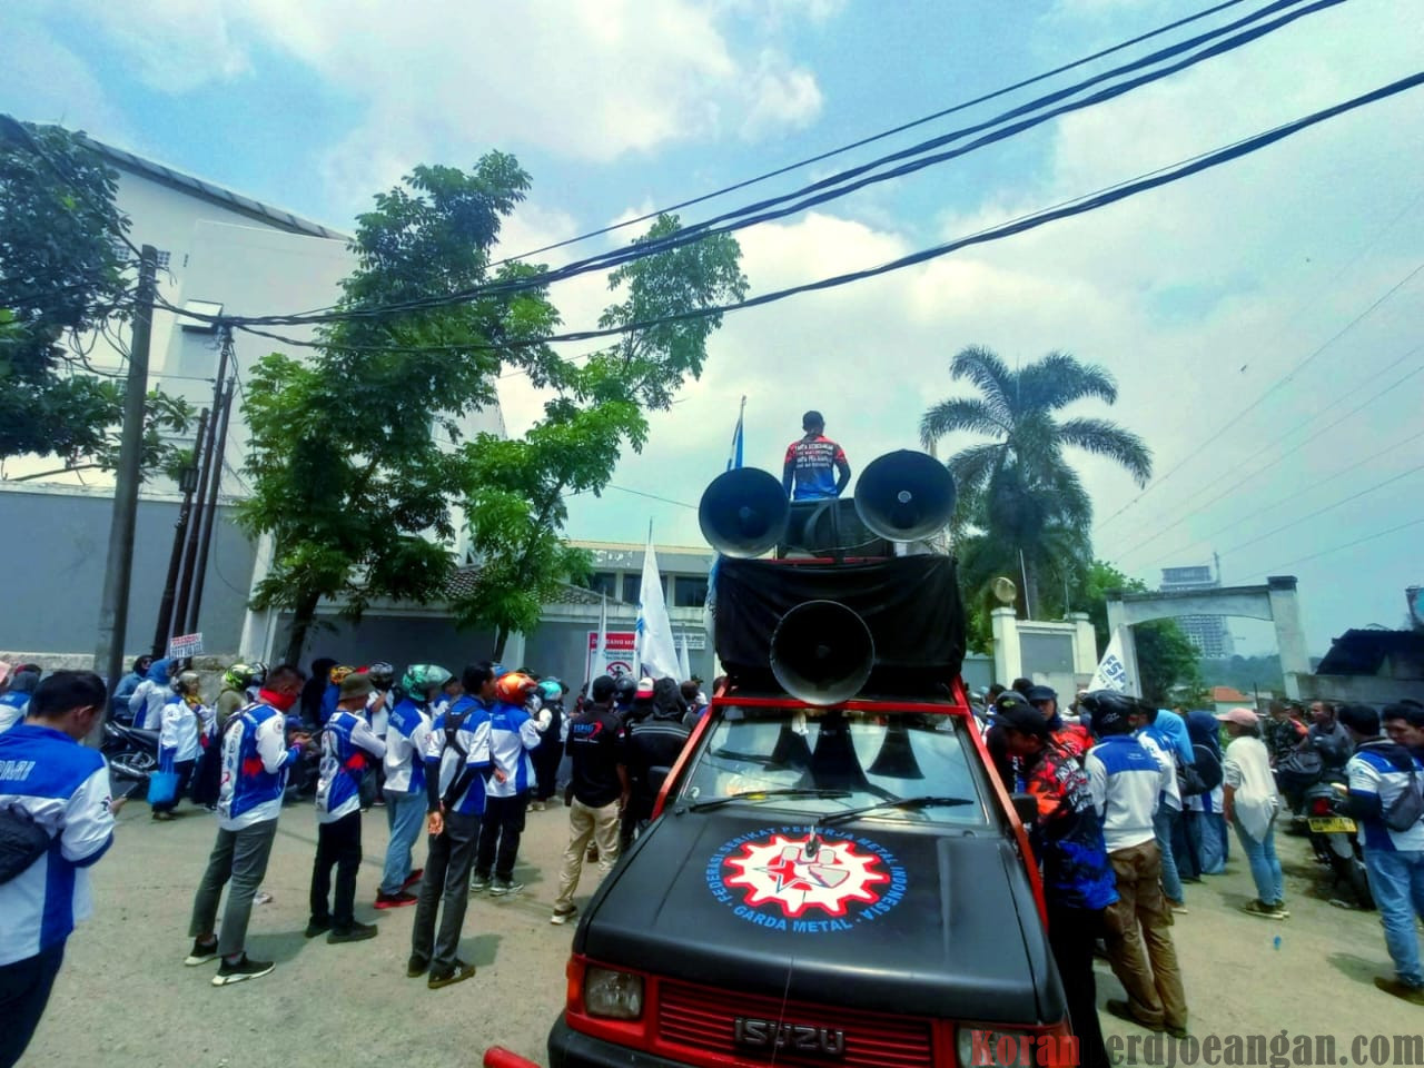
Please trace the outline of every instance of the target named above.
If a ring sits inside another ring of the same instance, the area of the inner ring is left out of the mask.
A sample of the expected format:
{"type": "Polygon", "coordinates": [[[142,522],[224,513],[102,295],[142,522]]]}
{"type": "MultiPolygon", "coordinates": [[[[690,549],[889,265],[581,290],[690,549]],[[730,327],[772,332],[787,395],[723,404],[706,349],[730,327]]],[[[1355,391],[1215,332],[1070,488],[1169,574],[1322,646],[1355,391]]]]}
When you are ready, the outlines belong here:
{"type": "Polygon", "coordinates": [[[839,705],[860,692],[876,664],[876,644],[859,614],[839,601],[806,601],[776,624],[772,674],[807,705],[839,705]]]}

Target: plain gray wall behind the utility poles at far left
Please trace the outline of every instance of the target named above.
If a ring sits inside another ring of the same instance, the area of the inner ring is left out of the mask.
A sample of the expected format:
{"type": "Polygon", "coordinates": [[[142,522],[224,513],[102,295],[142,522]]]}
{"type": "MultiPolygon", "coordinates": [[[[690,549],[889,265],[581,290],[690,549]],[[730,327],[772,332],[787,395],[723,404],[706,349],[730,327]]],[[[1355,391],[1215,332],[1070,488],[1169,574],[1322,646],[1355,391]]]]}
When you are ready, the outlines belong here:
{"type": "MultiPolygon", "coordinates": [[[[0,493],[0,648],[94,652],[112,511],[112,498],[97,494],[0,493]]],[[[238,648],[252,580],[253,547],[231,513],[219,507],[198,621],[206,651],[216,654],[238,648]]],[[[154,639],[177,520],[177,501],[138,503],[125,656],[147,652],[154,639]]]]}

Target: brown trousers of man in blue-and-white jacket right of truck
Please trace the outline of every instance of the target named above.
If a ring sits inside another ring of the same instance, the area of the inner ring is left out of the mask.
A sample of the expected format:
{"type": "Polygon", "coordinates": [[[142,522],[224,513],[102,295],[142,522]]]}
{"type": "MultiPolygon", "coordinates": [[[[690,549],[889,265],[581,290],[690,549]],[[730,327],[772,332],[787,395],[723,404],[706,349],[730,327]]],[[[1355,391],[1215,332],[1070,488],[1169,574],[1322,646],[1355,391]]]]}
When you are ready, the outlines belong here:
{"type": "Polygon", "coordinates": [[[1118,900],[1104,913],[1104,941],[1112,974],[1128,991],[1128,1004],[1138,1022],[1185,1028],[1186,993],[1172,944],[1172,910],[1162,897],[1159,857],[1156,842],[1108,854],[1118,877],[1118,900]]]}

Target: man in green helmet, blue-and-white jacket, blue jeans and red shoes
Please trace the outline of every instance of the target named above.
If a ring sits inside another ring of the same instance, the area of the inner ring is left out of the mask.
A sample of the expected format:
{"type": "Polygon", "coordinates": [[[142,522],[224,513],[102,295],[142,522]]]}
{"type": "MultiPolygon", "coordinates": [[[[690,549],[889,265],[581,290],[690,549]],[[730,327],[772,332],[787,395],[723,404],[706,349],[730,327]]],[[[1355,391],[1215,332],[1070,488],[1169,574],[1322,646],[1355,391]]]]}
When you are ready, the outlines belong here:
{"type": "Polygon", "coordinates": [[[412,664],[402,679],[404,696],[390,711],[386,726],[386,823],[390,842],[386,867],[376,894],[377,909],[403,909],[416,903],[410,887],[423,871],[414,866],[412,847],[426,816],[426,736],[430,702],[450,672],[433,664],[412,664]]]}

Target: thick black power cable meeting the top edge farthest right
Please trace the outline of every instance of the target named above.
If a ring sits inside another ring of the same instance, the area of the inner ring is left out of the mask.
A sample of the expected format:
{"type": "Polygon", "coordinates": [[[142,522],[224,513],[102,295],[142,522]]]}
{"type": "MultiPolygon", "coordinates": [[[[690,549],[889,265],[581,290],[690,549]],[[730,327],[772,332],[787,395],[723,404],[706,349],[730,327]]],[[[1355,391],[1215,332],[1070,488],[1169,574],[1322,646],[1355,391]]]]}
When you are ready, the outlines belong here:
{"type": "MultiPolygon", "coordinates": [[[[231,325],[248,325],[248,326],[252,326],[252,325],[265,325],[265,326],[272,326],[272,325],[278,325],[278,326],[313,325],[313,323],[326,323],[326,322],[355,320],[355,319],[363,319],[363,318],[376,318],[376,316],[383,316],[383,315],[390,315],[390,313],[399,313],[399,312],[424,310],[424,309],[430,309],[430,308],[449,306],[449,305],[453,305],[453,303],[464,303],[464,302],[470,302],[473,299],[483,298],[483,296],[496,296],[496,295],[510,295],[510,293],[517,293],[517,292],[527,292],[527,290],[531,290],[531,289],[545,288],[545,286],[548,286],[548,285],[551,285],[554,282],[567,281],[570,278],[574,278],[574,276],[581,275],[581,273],[587,273],[590,271],[607,271],[609,268],[615,268],[615,266],[619,266],[622,263],[627,263],[627,262],[629,262],[632,259],[639,259],[639,258],[644,258],[644,256],[656,255],[656,253],[661,253],[661,252],[668,252],[671,249],[681,248],[684,245],[688,245],[688,244],[692,244],[692,242],[696,242],[696,241],[702,241],[702,239],[705,239],[708,236],[721,235],[721,234],[729,234],[729,232],[733,232],[733,231],[738,231],[738,229],[745,229],[748,226],[758,225],[760,222],[768,222],[768,221],[772,221],[772,219],[785,218],[787,215],[799,214],[802,211],[806,211],[807,208],[817,206],[817,205],[824,204],[827,201],[837,199],[840,197],[849,195],[850,192],[862,189],[862,188],[864,188],[867,185],[871,185],[871,184],[876,184],[876,182],[890,181],[893,178],[900,178],[900,177],[903,177],[906,174],[911,174],[911,172],[923,169],[926,167],[931,167],[931,165],[941,164],[941,162],[946,162],[948,159],[965,155],[965,154],[973,152],[973,151],[975,151],[978,148],[983,148],[983,147],[985,147],[988,144],[994,144],[997,141],[1005,140],[1008,137],[1014,137],[1014,135],[1017,135],[1020,132],[1024,132],[1025,130],[1030,130],[1032,127],[1041,125],[1042,122],[1047,122],[1047,121],[1049,121],[1052,118],[1057,118],[1059,115],[1065,115],[1065,114],[1069,114],[1072,111],[1079,111],[1079,110],[1084,110],[1084,108],[1095,107],[1095,105],[1102,104],[1102,103],[1105,103],[1108,100],[1114,100],[1115,97],[1119,97],[1119,95],[1122,95],[1125,93],[1129,93],[1129,91],[1132,91],[1135,88],[1141,88],[1142,85],[1146,85],[1146,84],[1159,81],[1162,78],[1166,78],[1166,77],[1169,77],[1172,74],[1176,74],[1176,73],[1179,73],[1179,71],[1182,71],[1182,70],[1185,70],[1188,67],[1192,67],[1192,66],[1195,66],[1198,63],[1202,63],[1203,60],[1215,58],[1215,57],[1222,56],[1222,54],[1225,54],[1227,51],[1232,51],[1235,48],[1239,48],[1239,47],[1245,46],[1245,44],[1249,44],[1249,43],[1252,43],[1255,40],[1259,40],[1260,37],[1265,37],[1265,36],[1267,36],[1270,33],[1274,33],[1276,30],[1282,28],[1283,26],[1286,26],[1286,24],[1289,24],[1289,23],[1292,23],[1292,21],[1294,21],[1297,19],[1303,19],[1303,17],[1306,17],[1309,14],[1314,14],[1317,11],[1321,11],[1321,10],[1327,9],[1327,7],[1334,7],[1334,6],[1340,4],[1340,3],[1344,3],[1344,0],[1314,0],[1314,3],[1310,3],[1310,4],[1304,6],[1304,7],[1299,7],[1297,10],[1286,11],[1283,16],[1280,16],[1279,19],[1276,19],[1272,23],[1266,23],[1263,26],[1257,26],[1255,28],[1246,30],[1246,31],[1243,31],[1243,33],[1240,33],[1240,34],[1237,34],[1235,37],[1226,37],[1225,40],[1219,40],[1215,44],[1210,44],[1206,48],[1203,48],[1203,50],[1200,50],[1200,51],[1198,51],[1195,54],[1190,54],[1186,58],[1183,58],[1183,60],[1180,60],[1180,61],[1178,61],[1175,64],[1165,66],[1165,67],[1161,67],[1161,68],[1158,68],[1155,71],[1149,71],[1146,74],[1142,74],[1139,77],[1129,78],[1126,81],[1121,81],[1118,84],[1108,85],[1106,88],[1099,90],[1098,93],[1095,93],[1095,94],[1092,94],[1089,97],[1085,97],[1082,100],[1072,101],[1072,103],[1068,103],[1068,104],[1062,104],[1061,107],[1051,108],[1048,111],[1040,111],[1047,104],[1054,104],[1057,101],[1065,100],[1067,97],[1071,97],[1071,95],[1074,95],[1077,93],[1081,93],[1085,88],[1089,88],[1089,87],[1092,87],[1092,85],[1095,85],[1098,83],[1106,81],[1106,80],[1118,77],[1121,74],[1131,74],[1131,73],[1142,70],[1142,68],[1145,68],[1145,67],[1148,67],[1151,64],[1161,63],[1163,60],[1180,56],[1182,53],[1188,51],[1189,48],[1196,47],[1198,44],[1202,44],[1203,41],[1210,41],[1213,38],[1223,37],[1225,34],[1230,33],[1232,30],[1240,28],[1242,26],[1247,26],[1249,23],[1257,21],[1257,20],[1260,20],[1260,19],[1269,16],[1269,14],[1276,14],[1277,11],[1282,11],[1283,9],[1292,7],[1292,6],[1299,4],[1299,3],[1302,3],[1302,0],[1274,0],[1274,3],[1267,4],[1266,7],[1257,10],[1255,13],[1252,13],[1250,16],[1246,16],[1245,19],[1240,19],[1236,23],[1232,23],[1232,24],[1229,24],[1226,27],[1220,27],[1220,28],[1208,31],[1205,34],[1199,34],[1198,37],[1189,38],[1186,41],[1169,46],[1169,47],[1162,48],[1162,50],[1159,50],[1156,53],[1152,53],[1152,54],[1149,54],[1149,56],[1146,56],[1143,58],[1134,60],[1132,63],[1128,63],[1128,64],[1125,64],[1122,67],[1116,67],[1114,70],[1109,70],[1109,71],[1105,71],[1102,74],[1098,74],[1098,75],[1094,75],[1091,78],[1087,78],[1087,80],[1084,80],[1084,81],[1081,81],[1078,84],[1069,85],[1068,88],[1058,90],[1055,93],[1051,93],[1051,94],[1045,95],[1045,97],[1040,97],[1037,100],[1032,100],[1032,101],[1030,101],[1030,103],[1027,103],[1024,105],[1020,105],[1018,108],[1012,108],[1011,111],[1007,111],[1007,112],[1002,112],[1000,115],[995,115],[994,118],[987,120],[984,122],[978,122],[975,125],[965,127],[965,128],[961,128],[961,130],[956,130],[956,131],[951,131],[948,134],[943,134],[940,137],[931,138],[928,141],[923,141],[923,142],[920,142],[917,145],[911,145],[910,148],[901,150],[899,152],[893,152],[893,154],[890,154],[887,157],[881,157],[881,158],[873,159],[873,161],[870,161],[867,164],[862,164],[862,165],[850,168],[847,171],[842,171],[842,172],[839,172],[836,175],[832,175],[829,178],[820,179],[820,181],[813,182],[810,185],[806,185],[806,187],[802,187],[800,189],[795,189],[795,191],[792,191],[789,194],[782,194],[779,197],[773,197],[773,198],[769,198],[769,199],[765,199],[765,201],[759,201],[759,202],[752,204],[752,205],[745,206],[745,208],[738,208],[735,211],[725,212],[725,214],[713,216],[712,219],[708,219],[705,222],[693,224],[691,226],[684,226],[684,228],[678,229],[675,234],[668,235],[665,238],[659,238],[656,241],[638,241],[638,242],[634,242],[634,245],[631,245],[628,248],[618,249],[618,251],[614,251],[614,252],[600,253],[600,255],[590,256],[590,258],[582,259],[582,261],[575,261],[574,263],[565,265],[565,266],[558,268],[555,271],[545,271],[545,272],[528,275],[528,276],[524,276],[524,278],[520,278],[520,279],[514,279],[514,281],[508,281],[508,282],[493,282],[493,283],[484,283],[484,285],[470,286],[467,289],[463,289],[463,290],[459,290],[459,292],[454,292],[454,293],[444,293],[444,295],[437,295],[437,296],[430,296],[430,298],[419,298],[419,299],[404,300],[404,302],[393,302],[393,303],[377,305],[377,306],[370,306],[370,308],[346,308],[346,309],[340,309],[340,310],[336,310],[336,312],[329,312],[329,313],[323,313],[323,315],[310,315],[310,316],[302,316],[302,315],[231,316],[231,318],[228,318],[228,322],[231,325]],[[1038,111],[1038,114],[1032,114],[1035,111],[1038,111]],[[1022,118],[1022,121],[1018,121],[1018,122],[1011,124],[1011,125],[1001,125],[1001,124],[1007,122],[1008,120],[1020,118],[1022,115],[1030,115],[1030,117],[1028,118],[1022,118]],[[951,141],[956,141],[956,140],[961,140],[961,138],[968,137],[971,134],[977,134],[977,132],[983,132],[983,131],[987,131],[987,130],[993,130],[994,127],[1001,127],[1001,128],[994,130],[993,132],[987,134],[985,137],[978,138],[977,141],[970,142],[968,145],[964,145],[961,148],[954,148],[954,150],[950,150],[947,152],[938,152],[938,154],[934,154],[934,155],[923,155],[924,152],[928,152],[930,150],[938,148],[938,147],[941,147],[944,144],[948,144],[951,141]],[[911,157],[920,157],[920,158],[911,159],[911,162],[903,164],[900,167],[896,167],[893,169],[889,169],[889,171],[884,171],[884,172],[880,172],[880,174],[867,174],[867,172],[873,171],[874,168],[883,167],[883,165],[886,165],[889,162],[894,162],[897,159],[906,159],[906,158],[911,158],[911,157]],[[854,179],[854,181],[852,181],[852,179],[854,179]],[[803,199],[797,201],[796,198],[803,198],[803,199]],[[776,205],[786,205],[786,206],[776,206],[776,205]],[[760,214],[753,214],[753,212],[760,212],[760,214]]],[[[167,308],[169,310],[177,312],[177,313],[184,313],[182,309],[177,309],[177,308],[174,308],[171,305],[167,305],[167,308]]],[[[205,322],[208,322],[208,320],[214,320],[215,322],[218,319],[218,316],[204,316],[204,315],[198,315],[198,313],[192,313],[192,312],[188,312],[185,315],[188,315],[189,318],[198,319],[198,320],[205,320],[205,322]]]]}

